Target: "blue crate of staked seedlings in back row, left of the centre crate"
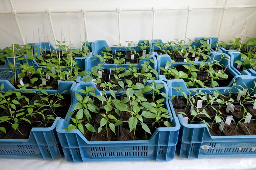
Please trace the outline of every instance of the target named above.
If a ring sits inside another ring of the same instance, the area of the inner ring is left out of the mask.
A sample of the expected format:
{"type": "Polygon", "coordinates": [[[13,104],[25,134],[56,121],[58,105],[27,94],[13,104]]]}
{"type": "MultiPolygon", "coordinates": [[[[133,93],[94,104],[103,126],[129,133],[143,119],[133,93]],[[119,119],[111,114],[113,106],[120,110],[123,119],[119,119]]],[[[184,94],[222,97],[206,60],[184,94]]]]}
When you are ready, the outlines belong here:
{"type": "MultiPolygon", "coordinates": [[[[89,45],[86,45],[88,46],[89,50],[91,51],[92,50],[92,42],[89,42],[90,46],[89,45]]],[[[40,54],[40,45],[41,45],[41,49],[45,49],[45,51],[50,51],[50,47],[51,47],[51,50],[52,51],[55,51],[55,48],[54,46],[49,43],[49,42],[45,42],[45,46],[44,46],[44,42],[41,42],[40,44],[37,43],[34,45],[34,53],[37,53],[37,54],[40,54]]],[[[84,48],[82,48],[84,50],[84,48]]],[[[42,52],[44,50],[41,50],[42,52]]],[[[60,52],[62,50],[60,49],[60,52]]],[[[57,53],[59,52],[59,49],[57,49],[57,53]]],[[[91,56],[92,55],[92,52],[89,53],[87,56],[91,56]]],[[[36,55],[34,55],[34,58],[36,58],[36,55]]],[[[77,63],[77,66],[79,67],[80,70],[84,70],[84,60],[85,60],[86,57],[75,57],[74,60],[76,61],[77,63]]],[[[28,61],[28,64],[31,66],[35,66],[35,68],[39,68],[40,66],[37,64],[37,61],[36,60],[29,60],[28,61]]]]}

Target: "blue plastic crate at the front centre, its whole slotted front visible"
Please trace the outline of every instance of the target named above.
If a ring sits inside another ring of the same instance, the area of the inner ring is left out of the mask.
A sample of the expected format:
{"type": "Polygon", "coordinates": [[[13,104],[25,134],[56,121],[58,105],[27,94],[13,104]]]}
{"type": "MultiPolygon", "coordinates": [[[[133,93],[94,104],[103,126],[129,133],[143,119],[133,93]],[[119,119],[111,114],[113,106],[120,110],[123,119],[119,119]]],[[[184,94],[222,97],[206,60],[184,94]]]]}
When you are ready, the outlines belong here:
{"type": "MultiPolygon", "coordinates": [[[[163,83],[162,92],[168,93],[166,83],[163,83]]],[[[73,93],[92,83],[77,83],[73,93]]],[[[96,89],[95,94],[100,91],[96,89]]],[[[77,102],[73,95],[73,105],[77,102]]],[[[168,110],[168,101],[165,100],[168,110]]],[[[59,121],[56,131],[63,148],[64,155],[69,162],[82,161],[128,161],[128,160],[156,160],[168,161],[174,158],[176,143],[180,124],[177,117],[170,118],[172,127],[159,127],[149,140],[140,141],[87,141],[79,130],[72,130],[67,133],[63,129],[69,125],[70,117],[67,121],[59,121]]]]}

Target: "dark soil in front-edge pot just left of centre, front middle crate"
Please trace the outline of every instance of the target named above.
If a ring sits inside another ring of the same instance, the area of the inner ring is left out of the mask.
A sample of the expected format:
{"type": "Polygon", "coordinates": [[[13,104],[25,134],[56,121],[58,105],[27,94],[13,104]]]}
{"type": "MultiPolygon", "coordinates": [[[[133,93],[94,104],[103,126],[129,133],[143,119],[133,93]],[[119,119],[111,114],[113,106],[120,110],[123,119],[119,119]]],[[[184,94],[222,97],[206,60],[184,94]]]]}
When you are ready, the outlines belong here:
{"type": "Polygon", "coordinates": [[[94,138],[92,138],[92,141],[117,141],[118,136],[118,128],[116,127],[116,134],[109,128],[108,126],[108,136],[106,128],[103,127],[100,133],[98,133],[98,127],[99,125],[95,125],[95,130],[97,133],[94,133],[94,138]]]}

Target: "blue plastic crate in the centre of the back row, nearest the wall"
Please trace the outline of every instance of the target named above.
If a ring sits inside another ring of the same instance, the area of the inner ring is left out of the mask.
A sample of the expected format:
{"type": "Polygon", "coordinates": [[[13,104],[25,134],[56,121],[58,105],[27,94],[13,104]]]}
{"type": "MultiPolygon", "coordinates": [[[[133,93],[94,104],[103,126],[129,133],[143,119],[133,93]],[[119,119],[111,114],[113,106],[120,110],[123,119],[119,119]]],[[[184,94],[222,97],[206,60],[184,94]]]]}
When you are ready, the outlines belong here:
{"type": "MultiPolygon", "coordinates": [[[[133,49],[135,49],[136,51],[141,51],[142,49],[139,47],[140,43],[144,43],[145,40],[140,40],[138,42],[138,46],[132,47],[133,49]]],[[[151,46],[151,42],[148,41],[149,46],[151,46]]],[[[104,47],[109,47],[108,43],[105,40],[96,40],[93,42],[92,48],[93,48],[93,53],[92,55],[101,55],[101,52],[104,51],[103,48],[104,47]]],[[[126,49],[124,47],[116,47],[116,46],[112,46],[111,47],[112,51],[114,52],[116,51],[126,51],[126,49]]],[[[127,51],[130,51],[129,49],[127,49],[127,51]]],[[[146,49],[147,52],[149,52],[149,54],[152,54],[151,48],[147,48],[146,49]]]]}

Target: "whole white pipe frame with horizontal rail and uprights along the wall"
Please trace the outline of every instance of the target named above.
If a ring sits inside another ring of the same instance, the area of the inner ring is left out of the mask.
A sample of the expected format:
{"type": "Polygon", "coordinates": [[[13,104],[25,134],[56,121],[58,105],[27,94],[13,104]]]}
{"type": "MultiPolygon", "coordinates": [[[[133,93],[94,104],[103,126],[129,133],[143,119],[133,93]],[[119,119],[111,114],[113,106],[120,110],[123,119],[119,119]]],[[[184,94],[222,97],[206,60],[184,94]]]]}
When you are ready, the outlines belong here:
{"type": "Polygon", "coordinates": [[[50,25],[51,25],[51,30],[52,30],[52,36],[54,39],[54,43],[56,44],[56,36],[55,36],[55,32],[54,32],[54,28],[53,28],[53,24],[52,24],[52,17],[51,14],[52,13],[82,13],[83,14],[83,19],[84,19],[84,29],[85,29],[85,40],[89,41],[88,39],[88,32],[87,32],[87,23],[86,23],[86,13],[88,12],[117,12],[117,17],[118,17],[118,38],[119,38],[119,43],[121,43],[121,26],[120,26],[120,22],[121,22],[121,18],[120,18],[120,13],[121,12],[132,12],[132,11],[152,11],[153,15],[152,15],[152,39],[154,39],[154,27],[155,27],[155,12],[157,11],[161,11],[161,10],[187,10],[187,23],[186,23],[186,30],[185,30],[185,37],[184,39],[186,39],[187,36],[187,29],[188,29],[188,21],[189,21],[189,15],[190,15],[190,11],[191,10],[198,10],[198,9],[223,9],[222,12],[222,17],[221,17],[221,21],[220,21],[220,26],[219,26],[219,32],[218,32],[218,37],[220,35],[221,32],[221,27],[222,27],[222,20],[224,18],[224,13],[226,9],[235,9],[235,8],[256,8],[256,5],[226,5],[227,0],[225,1],[224,5],[217,5],[217,6],[205,6],[205,7],[196,7],[196,6],[187,6],[187,7],[167,7],[167,8],[157,8],[157,7],[152,7],[152,8],[116,8],[116,9],[105,9],[105,10],[86,10],[86,9],[78,9],[78,10],[37,10],[37,11],[16,11],[14,9],[12,0],[9,0],[11,7],[12,7],[12,11],[2,11],[0,12],[1,14],[12,14],[14,15],[15,19],[16,19],[16,23],[17,23],[17,27],[20,31],[20,36],[21,39],[23,41],[23,44],[25,44],[24,38],[23,38],[23,34],[22,34],[22,30],[20,28],[20,24],[19,24],[19,20],[17,18],[17,14],[43,14],[46,13],[49,16],[49,21],[50,21],[50,25]]]}

